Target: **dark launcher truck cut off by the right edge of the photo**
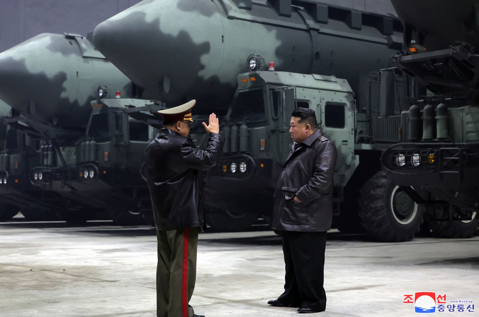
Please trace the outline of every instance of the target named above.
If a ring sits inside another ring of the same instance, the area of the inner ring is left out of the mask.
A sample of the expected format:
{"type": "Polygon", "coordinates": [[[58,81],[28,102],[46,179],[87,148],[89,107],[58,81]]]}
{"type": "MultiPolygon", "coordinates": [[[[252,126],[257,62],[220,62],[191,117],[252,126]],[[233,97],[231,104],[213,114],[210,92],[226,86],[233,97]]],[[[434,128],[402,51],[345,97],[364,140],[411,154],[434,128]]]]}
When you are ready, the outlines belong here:
{"type": "Polygon", "coordinates": [[[401,113],[401,143],[383,153],[383,170],[424,207],[433,235],[472,237],[479,226],[479,1],[391,2],[405,32],[392,66],[429,93],[401,113]]]}

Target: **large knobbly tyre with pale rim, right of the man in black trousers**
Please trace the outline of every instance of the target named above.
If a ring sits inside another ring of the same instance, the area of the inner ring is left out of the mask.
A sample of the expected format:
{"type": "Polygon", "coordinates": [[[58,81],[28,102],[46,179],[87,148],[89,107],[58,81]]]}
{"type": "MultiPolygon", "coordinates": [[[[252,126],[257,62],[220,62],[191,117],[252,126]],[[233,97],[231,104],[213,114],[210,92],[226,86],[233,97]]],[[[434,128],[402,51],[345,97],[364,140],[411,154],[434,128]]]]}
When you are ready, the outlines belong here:
{"type": "Polygon", "coordinates": [[[365,182],[358,204],[361,226],[379,241],[411,240],[422,222],[423,209],[382,171],[365,182]]]}

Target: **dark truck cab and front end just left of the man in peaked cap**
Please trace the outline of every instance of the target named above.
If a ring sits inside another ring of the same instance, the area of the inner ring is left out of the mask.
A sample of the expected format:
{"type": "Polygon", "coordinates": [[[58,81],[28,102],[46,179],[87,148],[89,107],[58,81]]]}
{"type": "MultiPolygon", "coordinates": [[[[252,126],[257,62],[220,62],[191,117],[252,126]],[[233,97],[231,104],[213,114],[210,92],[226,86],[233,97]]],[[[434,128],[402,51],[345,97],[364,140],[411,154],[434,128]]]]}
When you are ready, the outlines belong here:
{"type": "MultiPolygon", "coordinates": [[[[45,151],[44,166],[30,171],[31,181],[90,208],[105,210],[118,225],[142,224],[149,192],[141,172],[154,127],[124,112],[124,106],[91,102],[85,135],[59,153],[45,151]],[[51,155],[53,154],[53,157],[51,155]]],[[[48,147],[44,147],[48,148],[48,147]]]]}

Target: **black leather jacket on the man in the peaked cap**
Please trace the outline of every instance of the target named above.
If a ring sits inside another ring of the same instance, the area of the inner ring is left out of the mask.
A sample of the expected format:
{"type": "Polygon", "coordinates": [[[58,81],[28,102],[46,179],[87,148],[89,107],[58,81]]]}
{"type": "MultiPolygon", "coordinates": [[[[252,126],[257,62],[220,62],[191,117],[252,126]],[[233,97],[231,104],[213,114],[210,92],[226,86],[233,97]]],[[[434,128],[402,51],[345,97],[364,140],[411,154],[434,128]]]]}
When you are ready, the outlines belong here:
{"type": "Polygon", "coordinates": [[[148,187],[157,230],[205,228],[201,170],[217,163],[224,137],[210,133],[206,151],[190,138],[161,129],[145,153],[148,187]]]}

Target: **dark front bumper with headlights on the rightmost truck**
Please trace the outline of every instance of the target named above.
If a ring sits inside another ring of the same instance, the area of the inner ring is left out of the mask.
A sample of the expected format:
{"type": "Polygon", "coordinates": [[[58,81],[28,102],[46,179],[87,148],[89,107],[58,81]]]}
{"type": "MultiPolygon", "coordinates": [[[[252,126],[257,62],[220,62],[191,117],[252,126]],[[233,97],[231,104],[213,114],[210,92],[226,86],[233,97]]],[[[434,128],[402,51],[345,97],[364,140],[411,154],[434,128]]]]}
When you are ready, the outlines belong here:
{"type": "Polygon", "coordinates": [[[479,211],[479,144],[400,143],[383,152],[381,164],[397,185],[430,193],[422,195],[426,203],[479,211]]]}

